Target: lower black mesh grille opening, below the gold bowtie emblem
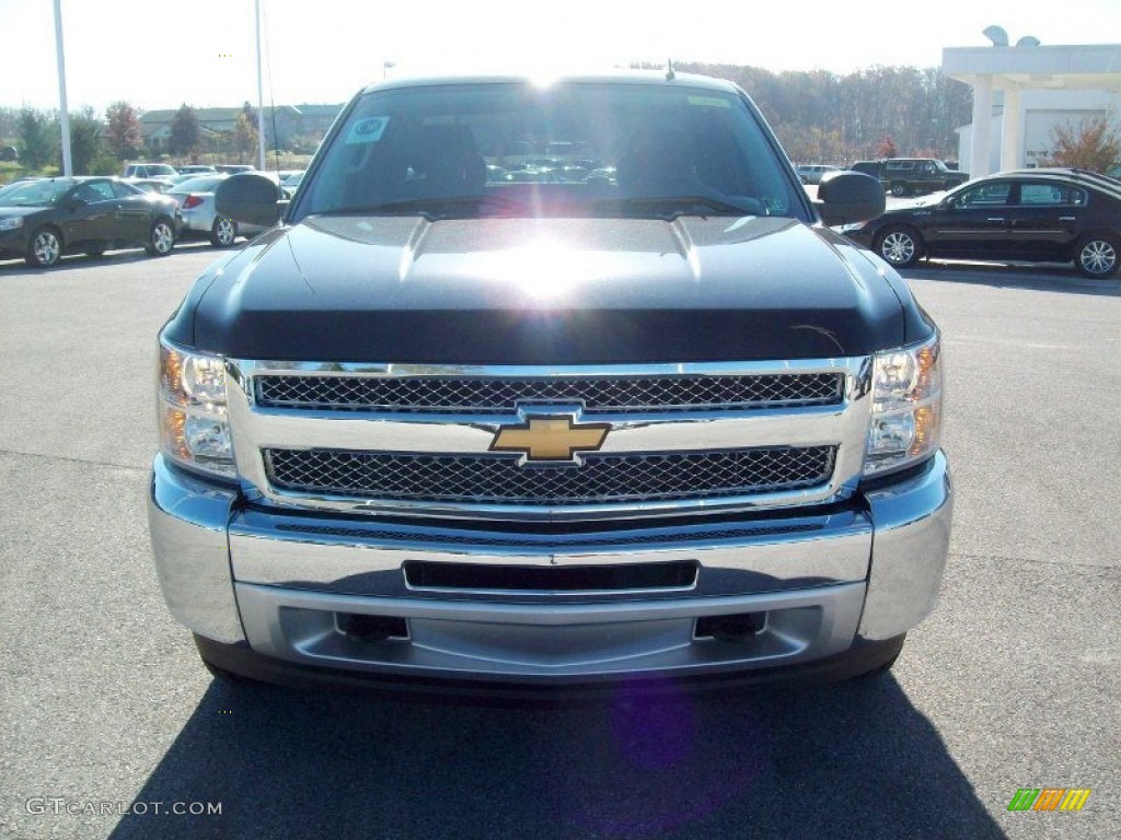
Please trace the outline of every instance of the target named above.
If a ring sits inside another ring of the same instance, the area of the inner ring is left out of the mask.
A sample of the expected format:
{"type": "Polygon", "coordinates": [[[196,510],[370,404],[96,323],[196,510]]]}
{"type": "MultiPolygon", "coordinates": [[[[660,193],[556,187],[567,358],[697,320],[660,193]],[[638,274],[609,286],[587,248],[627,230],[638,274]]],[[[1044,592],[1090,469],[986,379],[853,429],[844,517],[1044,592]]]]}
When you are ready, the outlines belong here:
{"type": "Polygon", "coordinates": [[[826,484],[836,447],[593,454],[582,466],[520,467],[516,456],[266,449],[289,493],[460,504],[594,505],[750,496],[826,484]]]}

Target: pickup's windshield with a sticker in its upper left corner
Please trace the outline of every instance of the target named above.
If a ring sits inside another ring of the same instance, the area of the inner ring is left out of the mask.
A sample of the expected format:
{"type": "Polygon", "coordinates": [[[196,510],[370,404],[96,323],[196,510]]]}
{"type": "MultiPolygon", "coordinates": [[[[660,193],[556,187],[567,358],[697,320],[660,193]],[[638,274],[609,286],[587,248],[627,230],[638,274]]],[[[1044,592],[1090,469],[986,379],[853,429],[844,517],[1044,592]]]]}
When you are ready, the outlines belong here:
{"type": "Polygon", "coordinates": [[[359,100],[322,150],[291,218],[808,221],[804,190],[779,155],[747,102],[713,87],[602,81],[393,87],[359,100]]]}

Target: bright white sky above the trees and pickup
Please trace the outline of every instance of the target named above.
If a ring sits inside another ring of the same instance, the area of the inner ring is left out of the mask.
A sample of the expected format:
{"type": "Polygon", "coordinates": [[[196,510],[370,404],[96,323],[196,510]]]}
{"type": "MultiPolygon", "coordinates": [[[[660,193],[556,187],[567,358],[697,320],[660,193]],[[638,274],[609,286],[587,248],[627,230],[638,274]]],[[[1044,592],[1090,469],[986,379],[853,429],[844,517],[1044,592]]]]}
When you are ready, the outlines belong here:
{"type": "MultiPolygon", "coordinates": [[[[1121,0],[260,0],[266,105],[340,103],[383,75],[705,62],[839,74],[945,47],[1121,44],[1121,0]],[[873,11],[882,9],[883,11],[873,11]]],[[[70,109],[258,101],[254,0],[61,0],[70,109]]],[[[0,0],[0,106],[59,103],[54,0],[0,0]]]]}

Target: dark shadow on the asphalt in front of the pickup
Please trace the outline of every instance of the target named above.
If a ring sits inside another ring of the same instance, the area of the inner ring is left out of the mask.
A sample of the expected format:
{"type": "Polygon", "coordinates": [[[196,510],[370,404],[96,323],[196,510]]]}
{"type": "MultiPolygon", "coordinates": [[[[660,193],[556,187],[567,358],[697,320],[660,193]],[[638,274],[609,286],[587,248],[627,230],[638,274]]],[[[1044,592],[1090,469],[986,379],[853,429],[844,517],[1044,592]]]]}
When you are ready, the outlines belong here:
{"type": "Polygon", "coordinates": [[[890,675],[562,709],[215,682],[152,802],[112,840],[1004,837],[890,675]]]}

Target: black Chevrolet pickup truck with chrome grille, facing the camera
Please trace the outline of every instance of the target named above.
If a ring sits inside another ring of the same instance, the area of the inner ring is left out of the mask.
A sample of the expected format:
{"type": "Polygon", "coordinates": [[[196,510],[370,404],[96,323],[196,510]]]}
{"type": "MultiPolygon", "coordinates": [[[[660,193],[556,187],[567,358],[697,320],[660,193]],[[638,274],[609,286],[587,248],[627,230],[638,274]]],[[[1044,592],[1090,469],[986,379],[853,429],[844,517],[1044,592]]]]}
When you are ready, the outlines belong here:
{"type": "Polygon", "coordinates": [[[216,202],[272,227],[159,335],[149,501],[216,675],[836,679],[932,609],[938,330],[826,226],[882,187],[812,203],[734,85],[382,82],[290,202],[259,175],[216,202]]]}

